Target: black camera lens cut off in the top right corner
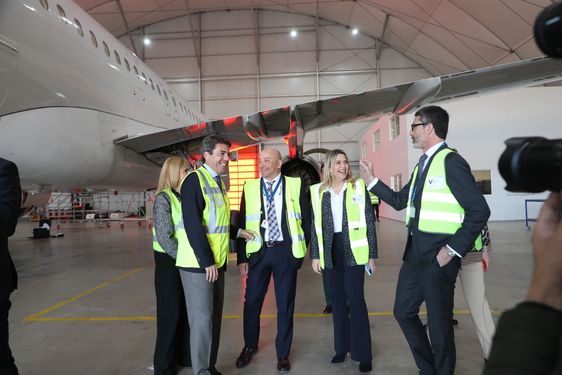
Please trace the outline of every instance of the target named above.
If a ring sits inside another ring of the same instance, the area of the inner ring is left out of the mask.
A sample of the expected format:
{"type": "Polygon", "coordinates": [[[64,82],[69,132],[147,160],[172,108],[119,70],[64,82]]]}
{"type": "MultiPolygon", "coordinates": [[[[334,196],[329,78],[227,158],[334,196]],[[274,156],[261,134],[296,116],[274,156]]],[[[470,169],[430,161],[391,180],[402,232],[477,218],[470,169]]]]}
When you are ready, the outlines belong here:
{"type": "Polygon", "coordinates": [[[551,5],[538,15],[535,41],[546,55],[562,57],[562,3],[551,5]]]}

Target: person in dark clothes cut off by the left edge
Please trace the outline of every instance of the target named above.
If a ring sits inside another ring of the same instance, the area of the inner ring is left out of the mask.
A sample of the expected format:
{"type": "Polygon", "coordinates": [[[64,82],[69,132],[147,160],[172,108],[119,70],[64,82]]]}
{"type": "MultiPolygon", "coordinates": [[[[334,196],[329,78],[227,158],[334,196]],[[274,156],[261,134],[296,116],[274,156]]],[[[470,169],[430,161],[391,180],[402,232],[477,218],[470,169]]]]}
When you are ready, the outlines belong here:
{"type": "Polygon", "coordinates": [[[8,237],[14,234],[21,206],[18,168],[0,158],[0,374],[18,374],[9,345],[10,294],[17,288],[16,268],[8,252],[8,237]]]}

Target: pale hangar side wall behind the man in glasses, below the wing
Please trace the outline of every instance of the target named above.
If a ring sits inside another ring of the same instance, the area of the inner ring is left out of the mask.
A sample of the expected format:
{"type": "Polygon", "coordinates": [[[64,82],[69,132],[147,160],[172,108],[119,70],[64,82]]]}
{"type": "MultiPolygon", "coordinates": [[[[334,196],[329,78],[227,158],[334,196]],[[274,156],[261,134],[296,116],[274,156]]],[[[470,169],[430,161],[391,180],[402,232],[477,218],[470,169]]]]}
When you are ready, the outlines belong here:
{"type": "MultiPolygon", "coordinates": [[[[492,211],[491,220],[523,220],[525,199],[545,199],[547,194],[511,193],[504,190],[505,181],[498,170],[498,160],[505,150],[504,140],[511,137],[562,137],[562,113],[557,110],[562,87],[521,88],[501,93],[470,97],[442,103],[449,112],[450,124],[447,143],[459,150],[472,170],[490,170],[492,194],[485,195],[492,211]]],[[[361,139],[366,156],[375,164],[375,172],[385,183],[390,176],[401,173],[403,184],[421,155],[412,147],[408,135],[413,114],[400,119],[400,136],[390,141],[388,119],[383,118],[361,139]],[[373,133],[381,131],[381,148],[372,151],[373,133]],[[404,156],[407,155],[407,158],[404,156]]],[[[534,218],[540,203],[529,205],[529,216],[534,218]]],[[[396,212],[388,205],[381,206],[383,217],[404,221],[404,212],[396,212]]]]}

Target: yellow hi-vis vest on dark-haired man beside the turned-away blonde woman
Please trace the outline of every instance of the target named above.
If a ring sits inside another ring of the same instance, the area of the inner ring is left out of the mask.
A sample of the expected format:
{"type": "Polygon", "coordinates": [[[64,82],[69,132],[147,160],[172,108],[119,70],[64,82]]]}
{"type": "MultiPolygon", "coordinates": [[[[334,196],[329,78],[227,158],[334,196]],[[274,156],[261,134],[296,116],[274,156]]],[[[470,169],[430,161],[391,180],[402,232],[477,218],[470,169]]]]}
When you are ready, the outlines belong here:
{"type": "MultiPolygon", "coordinates": [[[[228,258],[230,240],[230,205],[228,197],[226,194],[223,194],[226,188],[222,181],[222,189],[218,187],[205,167],[201,167],[191,173],[197,173],[197,179],[201,186],[201,192],[205,200],[202,225],[205,228],[207,240],[213,251],[215,265],[220,268],[226,263],[228,258]]],[[[176,266],[187,268],[201,267],[192,246],[189,244],[189,240],[187,241],[187,246],[178,247],[176,266]]]]}

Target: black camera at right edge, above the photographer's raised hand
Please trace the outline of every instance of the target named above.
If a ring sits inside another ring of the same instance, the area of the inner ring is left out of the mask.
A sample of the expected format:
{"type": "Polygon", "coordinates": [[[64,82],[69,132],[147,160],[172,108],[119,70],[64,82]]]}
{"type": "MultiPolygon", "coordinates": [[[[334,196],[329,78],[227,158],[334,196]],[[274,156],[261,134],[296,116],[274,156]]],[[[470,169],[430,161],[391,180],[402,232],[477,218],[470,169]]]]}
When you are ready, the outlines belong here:
{"type": "Polygon", "coordinates": [[[562,139],[519,137],[505,141],[498,163],[506,190],[539,193],[562,190],[562,139]]]}

